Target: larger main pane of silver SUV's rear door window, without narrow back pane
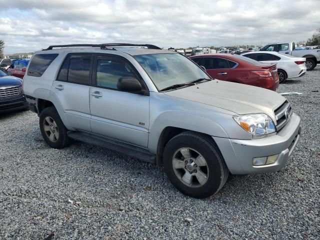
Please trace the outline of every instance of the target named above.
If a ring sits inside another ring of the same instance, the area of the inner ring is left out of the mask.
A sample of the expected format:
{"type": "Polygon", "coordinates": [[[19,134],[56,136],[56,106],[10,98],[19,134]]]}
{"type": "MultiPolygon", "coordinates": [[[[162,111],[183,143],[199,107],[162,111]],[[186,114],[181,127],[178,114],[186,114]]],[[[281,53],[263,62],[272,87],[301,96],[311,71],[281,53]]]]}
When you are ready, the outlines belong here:
{"type": "Polygon", "coordinates": [[[69,60],[67,81],[89,84],[91,55],[72,55],[69,60]]]}

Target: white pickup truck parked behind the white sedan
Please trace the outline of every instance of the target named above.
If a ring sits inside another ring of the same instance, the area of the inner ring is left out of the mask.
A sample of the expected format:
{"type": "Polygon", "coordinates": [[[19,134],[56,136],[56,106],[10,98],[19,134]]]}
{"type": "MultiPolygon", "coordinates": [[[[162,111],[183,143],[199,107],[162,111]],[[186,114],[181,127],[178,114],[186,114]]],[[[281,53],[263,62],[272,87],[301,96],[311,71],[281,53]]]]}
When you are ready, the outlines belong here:
{"type": "Polygon", "coordinates": [[[260,51],[277,51],[283,54],[290,54],[296,57],[305,57],[307,70],[312,70],[317,63],[320,63],[320,49],[295,50],[294,42],[268,43],[260,48],[260,51]]]}

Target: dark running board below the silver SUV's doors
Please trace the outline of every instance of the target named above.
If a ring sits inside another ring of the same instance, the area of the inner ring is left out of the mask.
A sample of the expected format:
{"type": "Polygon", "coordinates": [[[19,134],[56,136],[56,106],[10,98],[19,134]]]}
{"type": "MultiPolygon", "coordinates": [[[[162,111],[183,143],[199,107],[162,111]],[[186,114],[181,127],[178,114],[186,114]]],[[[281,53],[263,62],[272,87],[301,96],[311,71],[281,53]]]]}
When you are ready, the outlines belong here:
{"type": "Polygon", "coordinates": [[[102,146],[110,150],[138,158],[142,161],[155,163],[155,154],[152,154],[148,150],[138,146],[133,146],[124,142],[81,131],[68,131],[67,136],[78,141],[102,146]]]}

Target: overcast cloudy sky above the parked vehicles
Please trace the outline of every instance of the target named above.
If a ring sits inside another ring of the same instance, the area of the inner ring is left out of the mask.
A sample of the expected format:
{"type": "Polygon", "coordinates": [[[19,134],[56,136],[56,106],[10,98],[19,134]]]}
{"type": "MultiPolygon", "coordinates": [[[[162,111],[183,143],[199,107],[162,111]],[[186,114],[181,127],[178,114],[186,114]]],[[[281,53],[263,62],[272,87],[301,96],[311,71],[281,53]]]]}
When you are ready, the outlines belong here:
{"type": "Polygon", "coordinates": [[[306,40],[319,27],[320,0],[0,0],[5,53],[62,43],[256,45],[306,40]]]}

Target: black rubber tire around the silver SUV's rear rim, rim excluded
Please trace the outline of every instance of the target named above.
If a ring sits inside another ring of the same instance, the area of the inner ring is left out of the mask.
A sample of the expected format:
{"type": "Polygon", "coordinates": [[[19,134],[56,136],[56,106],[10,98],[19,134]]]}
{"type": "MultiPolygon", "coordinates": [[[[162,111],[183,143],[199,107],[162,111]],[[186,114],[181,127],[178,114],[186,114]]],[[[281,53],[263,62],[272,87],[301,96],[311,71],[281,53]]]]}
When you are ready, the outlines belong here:
{"type": "Polygon", "coordinates": [[[41,111],[39,115],[39,125],[40,125],[42,137],[50,147],[60,149],[68,144],[68,137],[66,134],[67,129],[65,128],[55,107],[53,106],[46,107],[41,111]],[[44,124],[45,124],[44,121],[46,117],[50,117],[56,123],[58,137],[55,138],[55,141],[50,140],[50,138],[47,135],[48,133],[46,133],[46,131],[44,130],[44,124]]]}

